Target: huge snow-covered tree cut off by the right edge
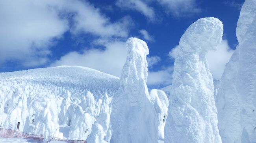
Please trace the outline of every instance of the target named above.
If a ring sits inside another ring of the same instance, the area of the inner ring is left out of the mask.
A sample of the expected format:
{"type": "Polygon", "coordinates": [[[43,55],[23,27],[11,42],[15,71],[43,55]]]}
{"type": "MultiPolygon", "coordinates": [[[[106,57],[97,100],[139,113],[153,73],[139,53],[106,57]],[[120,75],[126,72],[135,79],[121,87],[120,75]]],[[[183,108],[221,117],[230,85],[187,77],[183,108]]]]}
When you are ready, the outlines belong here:
{"type": "Polygon", "coordinates": [[[245,0],[236,29],[239,45],[226,64],[216,98],[224,143],[256,142],[256,0],[245,0]]]}

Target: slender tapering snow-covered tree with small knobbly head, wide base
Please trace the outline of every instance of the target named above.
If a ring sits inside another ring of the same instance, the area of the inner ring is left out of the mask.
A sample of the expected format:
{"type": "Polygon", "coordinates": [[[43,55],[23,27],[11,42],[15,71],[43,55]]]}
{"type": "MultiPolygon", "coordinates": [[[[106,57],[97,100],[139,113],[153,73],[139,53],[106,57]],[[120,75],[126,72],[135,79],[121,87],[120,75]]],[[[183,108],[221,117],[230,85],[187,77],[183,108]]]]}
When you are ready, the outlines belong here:
{"type": "Polygon", "coordinates": [[[126,42],[128,56],[120,89],[113,98],[111,143],[157,143],[158,119],[146,85],[147,44],[137,38],[126,42]]]}

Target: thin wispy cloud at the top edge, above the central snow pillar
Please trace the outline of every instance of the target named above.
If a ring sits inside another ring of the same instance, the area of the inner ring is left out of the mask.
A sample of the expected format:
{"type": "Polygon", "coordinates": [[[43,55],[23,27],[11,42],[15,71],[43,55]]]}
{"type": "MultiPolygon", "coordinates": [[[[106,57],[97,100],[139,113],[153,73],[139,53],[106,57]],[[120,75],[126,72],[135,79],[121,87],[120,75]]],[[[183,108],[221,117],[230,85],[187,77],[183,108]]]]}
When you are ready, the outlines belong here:
{"type": "Polygon", "coordinates": [[[145,1],[142,1],[142,0],[118,0],[116,5],[121,8],[139,11],[141,14],[145,15],[150,20],[155,19],[154,9],[150,6],[148,6],[148,4],[145,1]]]}

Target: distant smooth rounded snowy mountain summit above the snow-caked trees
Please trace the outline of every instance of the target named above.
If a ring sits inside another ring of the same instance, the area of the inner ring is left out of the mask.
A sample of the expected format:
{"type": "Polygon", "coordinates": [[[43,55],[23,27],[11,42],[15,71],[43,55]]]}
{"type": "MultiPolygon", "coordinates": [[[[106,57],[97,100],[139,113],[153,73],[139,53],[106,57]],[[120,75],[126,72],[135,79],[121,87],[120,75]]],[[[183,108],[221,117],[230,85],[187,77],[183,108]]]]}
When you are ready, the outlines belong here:
{"type": "Polygon", "coordinates": [[[88,67],[59,66],[0,73],[0,80],[24,80],[43,85],[80,88],[94,91],[115,91],[119,78],[88,67]]]}

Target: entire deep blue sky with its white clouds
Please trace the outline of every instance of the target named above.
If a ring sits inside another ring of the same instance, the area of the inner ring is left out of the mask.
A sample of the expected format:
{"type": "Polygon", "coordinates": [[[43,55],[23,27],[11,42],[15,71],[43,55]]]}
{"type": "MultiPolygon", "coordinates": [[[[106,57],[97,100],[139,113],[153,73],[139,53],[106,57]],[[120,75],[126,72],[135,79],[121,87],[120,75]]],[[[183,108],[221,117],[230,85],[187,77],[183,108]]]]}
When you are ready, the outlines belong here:
{"type": "Polygon", "coordinates": [[[120,76],[129,37],[147,42],[148,86],[171,84],[175,47],[199,18],[224,24],[219,50],[208,54],[213,78],[236,48],[244,0],[44,0],[0,2],[0,72],[81,65],[120,76]],[[217,57],[217,58],[216,58],[217,57]]]}

